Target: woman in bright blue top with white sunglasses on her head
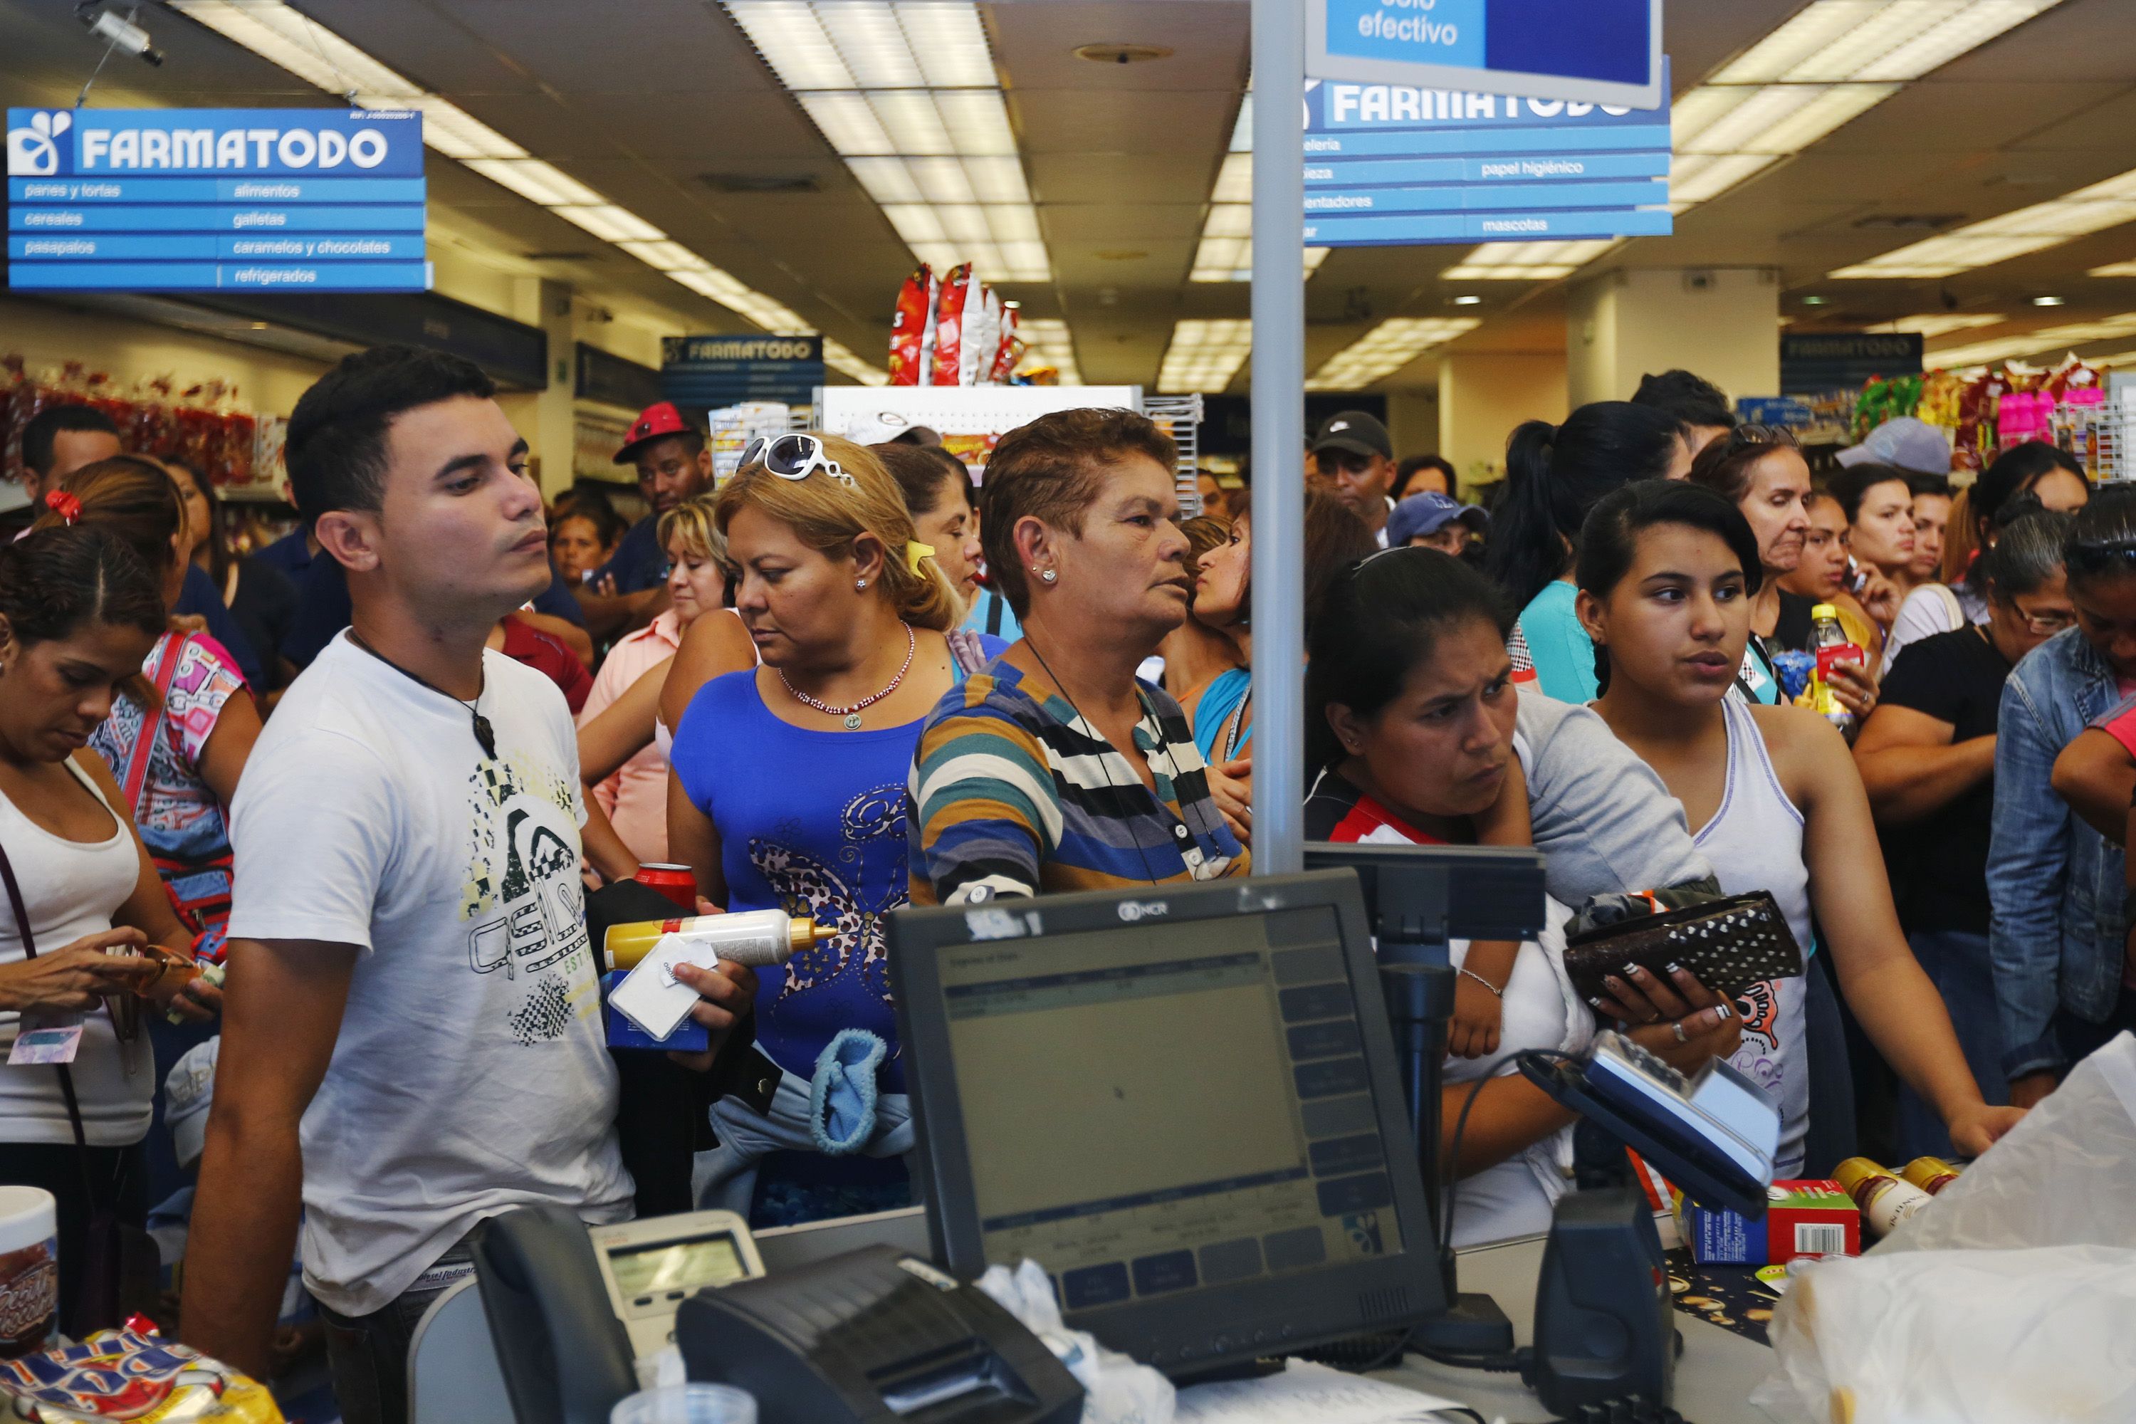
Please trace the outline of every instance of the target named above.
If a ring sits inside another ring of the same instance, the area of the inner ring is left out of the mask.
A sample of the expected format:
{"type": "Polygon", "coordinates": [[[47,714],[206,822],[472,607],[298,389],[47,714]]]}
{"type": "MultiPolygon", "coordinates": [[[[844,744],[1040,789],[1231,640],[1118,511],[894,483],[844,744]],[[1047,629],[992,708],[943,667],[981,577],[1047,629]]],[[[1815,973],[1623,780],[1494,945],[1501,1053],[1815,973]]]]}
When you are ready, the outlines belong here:
{"type": "MultiPolygon", "coordinates": [[[[707,1204],[758,1225],[910,1202],[884,916],[906,903],[906,773],[927,711],[993,649],[865,448],[782,436],[720,491],[735,613],[763,666],[705,683],[675,728],[669,854],[724,909],[831,931],[758,971],[769,1110],[713,1106],[707,1204]]],[[[998,649],[998,645],[995,645],[998,649]]]]}

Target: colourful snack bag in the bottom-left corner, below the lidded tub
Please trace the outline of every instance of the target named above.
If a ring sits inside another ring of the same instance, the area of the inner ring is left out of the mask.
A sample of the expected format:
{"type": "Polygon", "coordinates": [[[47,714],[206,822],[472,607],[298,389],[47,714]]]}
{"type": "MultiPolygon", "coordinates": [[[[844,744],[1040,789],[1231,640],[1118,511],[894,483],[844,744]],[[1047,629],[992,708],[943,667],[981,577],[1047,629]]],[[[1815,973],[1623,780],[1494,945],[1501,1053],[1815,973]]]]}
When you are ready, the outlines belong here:
{"type": "Polygon", "coordinates": [[[263,1383],[132,1328],[0,1362],[0,1398],[30,1424],[282,1424],[263,1383]]]}

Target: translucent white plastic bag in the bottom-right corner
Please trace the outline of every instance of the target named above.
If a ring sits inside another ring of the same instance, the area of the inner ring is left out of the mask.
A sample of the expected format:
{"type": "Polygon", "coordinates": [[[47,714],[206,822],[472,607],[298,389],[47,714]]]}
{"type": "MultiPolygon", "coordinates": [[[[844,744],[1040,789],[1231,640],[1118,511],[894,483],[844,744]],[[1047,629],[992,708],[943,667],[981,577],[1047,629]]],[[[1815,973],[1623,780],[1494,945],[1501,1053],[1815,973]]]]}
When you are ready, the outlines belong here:
{"type": "Polygon", "coordinates": [[[2121,1033],[1888,1240],[1790,1272],[1784,1420],[2136,1420],[2136,1038],[2121,1033]]]}

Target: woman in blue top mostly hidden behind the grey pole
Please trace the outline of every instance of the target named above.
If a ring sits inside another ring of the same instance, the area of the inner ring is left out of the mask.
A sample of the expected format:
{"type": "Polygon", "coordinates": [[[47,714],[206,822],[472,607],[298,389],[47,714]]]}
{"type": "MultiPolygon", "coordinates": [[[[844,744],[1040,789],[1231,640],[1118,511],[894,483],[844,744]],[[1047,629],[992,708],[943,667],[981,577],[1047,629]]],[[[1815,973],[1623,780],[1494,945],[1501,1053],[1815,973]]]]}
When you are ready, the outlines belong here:
{"type": "MultiPolygon", "coordinates": [[[[1314,636],[1320,606],[1335,574],[1363,557],[1378,553],[1365,521],[1341,500],[1305,491],[1305,636],[1314,636]]],[[[1243,666],[1220,673],[1194,702],[1194,745],[1203,760],[1252,796],[1254,705],[1254,521],[1239,512],[1230,521],[1230,540],[1200,557],[1194,579],[1194,606],[1188,617],[1222,632],[1239,649],[1243,666]]],[[[1226,803],[1224,786],[1211,777],[1218,801],[1226,803]]]]}

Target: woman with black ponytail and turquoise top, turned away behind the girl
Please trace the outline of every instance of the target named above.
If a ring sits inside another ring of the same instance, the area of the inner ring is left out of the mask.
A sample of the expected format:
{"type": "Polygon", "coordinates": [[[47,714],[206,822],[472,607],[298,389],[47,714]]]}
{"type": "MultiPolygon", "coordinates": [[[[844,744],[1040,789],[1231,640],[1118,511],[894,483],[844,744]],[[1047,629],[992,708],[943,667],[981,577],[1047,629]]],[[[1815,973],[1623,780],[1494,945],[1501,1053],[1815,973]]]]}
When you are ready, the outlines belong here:
{"type": "Polygon", "coordinates": [[[1564,425],[1529,421],[1506,442],[1506,497],[1491,515],[1485,570],[1521,611],[1512,640],[1525,643],[1544,696],[1596,696],[1596,647],[1572,613],[1587,510],[1632,480],[1668,476],[1677,453],[1677,423],[1630,401],[1581,406],[1564,425]]]}

